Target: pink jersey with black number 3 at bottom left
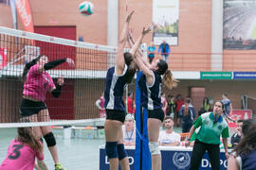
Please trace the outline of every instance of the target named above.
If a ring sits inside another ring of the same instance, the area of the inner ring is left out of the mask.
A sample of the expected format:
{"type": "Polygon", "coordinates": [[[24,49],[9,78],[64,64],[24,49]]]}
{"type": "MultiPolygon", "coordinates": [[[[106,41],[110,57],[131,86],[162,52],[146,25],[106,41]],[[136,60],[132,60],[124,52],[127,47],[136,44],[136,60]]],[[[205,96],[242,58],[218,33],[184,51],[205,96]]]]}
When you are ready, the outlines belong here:
{"type": "Polygon", "coordinates": [[[21,144],[14,139],[9,144],[7,158],[0,165],[0,170],[33,170],[35,157],[44,160],[44,154],[33,150],[27,144],[21,144]]]}

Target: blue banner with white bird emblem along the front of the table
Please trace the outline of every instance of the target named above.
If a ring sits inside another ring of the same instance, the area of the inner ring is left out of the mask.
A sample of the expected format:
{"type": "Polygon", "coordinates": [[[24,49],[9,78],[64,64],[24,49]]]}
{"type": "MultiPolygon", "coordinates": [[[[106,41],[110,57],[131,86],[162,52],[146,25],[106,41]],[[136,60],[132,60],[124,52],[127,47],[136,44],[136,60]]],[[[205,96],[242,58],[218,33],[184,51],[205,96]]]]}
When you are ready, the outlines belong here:
{"type": "MultiPolygon", "coordinates": [[[[161,149],[161,148],[160,148],[161,149]]],[[[134,169],[135,163],[135,148],[126,149],[130,164],[130,169],[134,169]]],[[[192,147],[165,147],[161,149],[162,157],[162,169],[164,170],[188,170],[190,168],[191,159],[192,159],[192,147]]],[[[147,161],[148,163],[151,160],[147,161]]],[[[225,156],[225,152],[222,149],[220,153],[220,169],[226,170],[228,167],[228,161],[225,156]]],[[[102,146],[100,148],[100,170],[109,169],[109,160],[105,154],[105,149],[102,146]]],[[[200,170],[210,170],[210,160],[209,156],[206,153],[201,161],[200,170]]],[[[119,167],[120,170],[120,167],[119,167]]]]}

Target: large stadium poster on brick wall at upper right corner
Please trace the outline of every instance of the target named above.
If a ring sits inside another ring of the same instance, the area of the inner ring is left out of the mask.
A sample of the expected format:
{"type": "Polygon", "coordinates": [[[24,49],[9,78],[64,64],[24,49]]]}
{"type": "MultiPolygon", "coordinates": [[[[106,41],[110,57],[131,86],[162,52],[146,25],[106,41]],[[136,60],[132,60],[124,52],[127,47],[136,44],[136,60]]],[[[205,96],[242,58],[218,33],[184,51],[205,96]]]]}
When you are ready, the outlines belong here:
{"type": "Polygon", "coordinates": [[[254,0],[224,0],[223,48],[256,49],[256,3],[254,0]]]}

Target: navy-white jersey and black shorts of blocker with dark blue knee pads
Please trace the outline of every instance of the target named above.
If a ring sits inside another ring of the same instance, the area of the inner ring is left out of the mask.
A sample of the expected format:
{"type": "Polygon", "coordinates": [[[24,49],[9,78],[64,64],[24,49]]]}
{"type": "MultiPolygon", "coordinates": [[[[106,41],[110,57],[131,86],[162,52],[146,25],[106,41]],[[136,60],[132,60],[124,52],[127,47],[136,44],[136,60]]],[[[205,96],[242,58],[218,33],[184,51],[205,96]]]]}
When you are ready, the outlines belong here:
{"type": "Polygon", "coordinates": [[[111,67],[107,71],[106,86],[104,91],[106,109],[106,119],[118,120],[124,122],[125,107],[122,100],[124,89],[127,85],[126,75],[128,66],[124,66],[124,70],[120,76],[116,74],[116,67],[111,67]]]}

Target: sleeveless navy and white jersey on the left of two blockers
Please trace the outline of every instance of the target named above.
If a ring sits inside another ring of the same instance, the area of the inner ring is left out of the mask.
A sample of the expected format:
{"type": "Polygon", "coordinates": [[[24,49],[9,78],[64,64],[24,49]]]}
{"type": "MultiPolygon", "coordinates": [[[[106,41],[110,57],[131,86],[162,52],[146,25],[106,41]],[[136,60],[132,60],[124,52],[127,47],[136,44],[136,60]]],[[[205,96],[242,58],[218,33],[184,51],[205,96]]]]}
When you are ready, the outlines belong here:
{"type": "Polygon", "coordinates": [[[106,86],[105,86],[105,103],[104,107],[107,110],[121,110],[124,111],[125,107],[122,100],[123,91],[127,85],[126,72],[128,70],[125,64],[123,73],[118,76],[116,74],[116,67],[111,67],[107,71],[106,86]]]}

